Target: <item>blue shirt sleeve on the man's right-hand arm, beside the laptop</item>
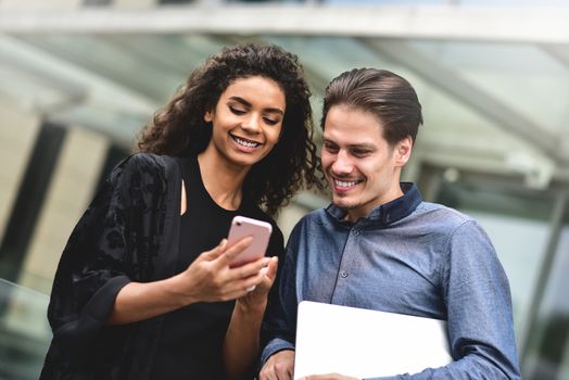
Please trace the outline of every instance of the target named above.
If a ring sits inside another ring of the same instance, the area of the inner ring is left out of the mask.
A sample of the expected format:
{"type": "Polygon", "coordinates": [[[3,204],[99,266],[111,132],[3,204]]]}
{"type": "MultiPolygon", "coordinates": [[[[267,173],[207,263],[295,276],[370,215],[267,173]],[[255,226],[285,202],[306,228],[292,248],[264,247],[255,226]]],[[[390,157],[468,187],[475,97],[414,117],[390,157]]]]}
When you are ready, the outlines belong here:
{"type": "Polygon", "coordinates": [[[451,236],[442,270],[454,362],[378,379],[521,379],[506,274],[485,232],[469,220],[451,236]]]}

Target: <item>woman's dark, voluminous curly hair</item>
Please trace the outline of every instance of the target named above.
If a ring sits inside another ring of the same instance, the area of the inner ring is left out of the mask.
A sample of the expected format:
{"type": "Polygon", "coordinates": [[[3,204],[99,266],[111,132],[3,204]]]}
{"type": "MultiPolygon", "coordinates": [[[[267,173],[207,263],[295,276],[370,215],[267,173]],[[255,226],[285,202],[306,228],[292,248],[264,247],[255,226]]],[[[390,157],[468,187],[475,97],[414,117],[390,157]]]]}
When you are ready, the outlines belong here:
{"type": "Polygon", "coordinates": [[[215,110],[236,79],[251,76],[275,80],[287,102],[279,142],[253,165],[243,183],[243,194],[275,215],[303,186],[321,187],[311,91],[298,56],[277,46],[240,45],[210,56],[142,129],[138,150],[175,156],[201,153],[212,138],[205,112],[215,110]]]}

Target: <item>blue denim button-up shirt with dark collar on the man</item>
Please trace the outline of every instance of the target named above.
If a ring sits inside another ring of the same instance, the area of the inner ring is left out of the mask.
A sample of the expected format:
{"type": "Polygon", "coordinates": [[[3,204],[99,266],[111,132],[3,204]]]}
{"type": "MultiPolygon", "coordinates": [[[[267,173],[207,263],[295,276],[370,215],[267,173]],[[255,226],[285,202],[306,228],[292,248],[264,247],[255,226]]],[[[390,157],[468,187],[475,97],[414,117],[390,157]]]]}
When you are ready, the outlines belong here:
{"type": "Polygon", "coordinates": [[[447,320],[453,363],[382,379],[520,379],[508,280],[490,239],[470,217],[422,202],[415,185],[402,189],[355,224],[333,205],[299,221],[262,363],[294,350],[296,307],[308,300],[447,320]]]}

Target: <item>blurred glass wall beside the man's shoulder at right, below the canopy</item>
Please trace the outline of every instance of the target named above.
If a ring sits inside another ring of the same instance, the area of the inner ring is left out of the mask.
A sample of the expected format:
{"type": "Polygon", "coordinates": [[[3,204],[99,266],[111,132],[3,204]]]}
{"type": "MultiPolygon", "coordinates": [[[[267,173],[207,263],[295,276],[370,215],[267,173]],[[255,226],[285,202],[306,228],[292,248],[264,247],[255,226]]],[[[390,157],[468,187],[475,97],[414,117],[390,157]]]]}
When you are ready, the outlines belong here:
{"type": "Polygon", "coordinates": [[[475,217],[508,276],[523,379],[569,377],[567,191],[528,189],[520,178],[426,166],[429,201],[475,217]]]}

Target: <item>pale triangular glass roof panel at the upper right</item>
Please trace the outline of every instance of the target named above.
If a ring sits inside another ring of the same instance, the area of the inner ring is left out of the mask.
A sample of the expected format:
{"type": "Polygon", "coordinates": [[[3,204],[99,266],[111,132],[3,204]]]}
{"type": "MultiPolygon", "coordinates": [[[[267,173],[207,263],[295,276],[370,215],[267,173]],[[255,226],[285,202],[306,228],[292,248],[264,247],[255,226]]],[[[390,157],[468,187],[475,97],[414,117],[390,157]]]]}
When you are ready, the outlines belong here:
{"type": "Polygon", "coordinates": [[[567,48],[464,41],[409,45],[540,127],[552,132],[564,130],[569,73],[557,55],[567,54],[567,48]]]}

